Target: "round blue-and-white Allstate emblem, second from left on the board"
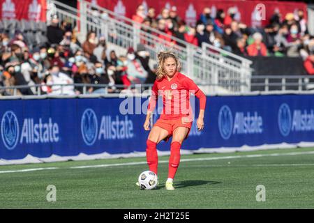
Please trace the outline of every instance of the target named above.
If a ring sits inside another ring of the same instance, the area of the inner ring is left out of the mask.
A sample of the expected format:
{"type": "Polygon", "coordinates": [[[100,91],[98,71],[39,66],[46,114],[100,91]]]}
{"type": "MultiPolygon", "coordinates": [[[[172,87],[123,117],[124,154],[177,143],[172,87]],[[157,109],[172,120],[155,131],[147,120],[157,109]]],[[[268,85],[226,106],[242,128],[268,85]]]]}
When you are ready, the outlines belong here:
{"type": "Polygon", "coordinates": [[[82,114],[81,132],[82,137],[88,146],[92,146],[97,138],[98,121],[93,109],[86,109],[82,114]]]}

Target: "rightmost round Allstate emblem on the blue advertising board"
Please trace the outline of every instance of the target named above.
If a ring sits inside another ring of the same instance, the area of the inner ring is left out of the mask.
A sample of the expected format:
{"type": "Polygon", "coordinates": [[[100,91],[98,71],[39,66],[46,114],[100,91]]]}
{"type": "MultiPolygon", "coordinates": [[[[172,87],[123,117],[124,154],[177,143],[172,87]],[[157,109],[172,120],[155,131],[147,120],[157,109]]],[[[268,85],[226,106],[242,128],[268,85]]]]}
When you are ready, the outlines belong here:
{"type": "Polygon", "coordinates": [[[281,134],[286,137],[291,130],[292,116],[290,107],[287,104],[282,104],[278,111],[278,126],[281,134]]]}

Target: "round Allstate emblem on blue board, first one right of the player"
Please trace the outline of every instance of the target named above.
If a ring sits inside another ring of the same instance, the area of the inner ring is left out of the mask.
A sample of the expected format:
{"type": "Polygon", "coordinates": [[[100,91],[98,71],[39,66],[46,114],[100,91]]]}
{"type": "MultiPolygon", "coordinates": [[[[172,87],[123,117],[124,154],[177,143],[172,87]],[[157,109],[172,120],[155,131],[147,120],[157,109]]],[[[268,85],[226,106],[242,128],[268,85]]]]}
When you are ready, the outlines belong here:
{"type": "Polygon", "coordinates": [[[233,118],[230,107],[224,105],[220,108],[218,115],[218,127],[221,137],[229,139],[232,134],[233,118]]]}

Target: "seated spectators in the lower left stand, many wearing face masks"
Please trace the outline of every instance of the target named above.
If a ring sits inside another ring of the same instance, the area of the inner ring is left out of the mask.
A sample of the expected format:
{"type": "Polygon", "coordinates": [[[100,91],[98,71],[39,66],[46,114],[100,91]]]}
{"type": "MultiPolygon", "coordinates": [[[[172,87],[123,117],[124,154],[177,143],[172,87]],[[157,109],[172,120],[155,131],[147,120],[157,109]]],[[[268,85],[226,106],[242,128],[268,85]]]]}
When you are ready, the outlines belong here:
{"type": "MultiPolygon", "coordinates": [[[[83,43],[70,22],[61,22],[57,15],[47,26],[47,41],[29,47],[30,40],[20,30],[14,36],[7,31],[0,34],[0,86],[31,86],[42,84],[40,94],[75,95],[83,93],[82,86],[95,84],[85,93],[116,93],[115,85],[154,83],[155,76],[149,67],[149,53],[143,45],[137,50],[130,47],[126,55],[108,52],[104,36],[94,31],[87,34],[83,43]],[[54,84],[70,84],[56,86],[54,84]],[[107,84],[109,87],[97,86],[107,84]]],[[[14,89],[0,90],[0,95],[13,95],[14,89]]],[[[36,87],[21,88],[17,95],[38,94],[36,87]]]]}

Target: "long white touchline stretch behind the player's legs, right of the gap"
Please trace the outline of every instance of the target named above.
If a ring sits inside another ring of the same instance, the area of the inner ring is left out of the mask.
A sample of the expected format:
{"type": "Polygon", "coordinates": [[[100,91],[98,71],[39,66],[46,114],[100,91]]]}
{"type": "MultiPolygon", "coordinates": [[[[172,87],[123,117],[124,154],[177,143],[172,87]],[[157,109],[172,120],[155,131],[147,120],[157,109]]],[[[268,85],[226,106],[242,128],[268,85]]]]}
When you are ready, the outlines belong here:
{"type": "MultiPolygon", "coordinates": [[[[207,157],[207,158],[190,158],[190,159],[181,159],[180,162],[191,162],[191,161],[204,161],[204,160],[228,160],[228,159],[239,159],[239,158],[252,158],[252,157],[269,157],[269,156],[283,156],[283,155],[306,155],[314,154],[314,151],[308,152],[294,152],[294,153],[270,153],[270,154],[255,154],[255,155],[230,155],[230,156],[221,156],[221,157],[207,157]]],[[[161,160],[158,163],[167,163],[168,160],[161,160]]],[[[89,166],[78,166],[70,167],[70,169],[86,169],[86,168],[98,168],[98,167],[118,167],[118,166],[128,166],[128,165],[137,165],[137,164],[147,164],[147,162],[125,162],[117,164],[99,164],[99,165],[89,165],[89,166]]]]}

